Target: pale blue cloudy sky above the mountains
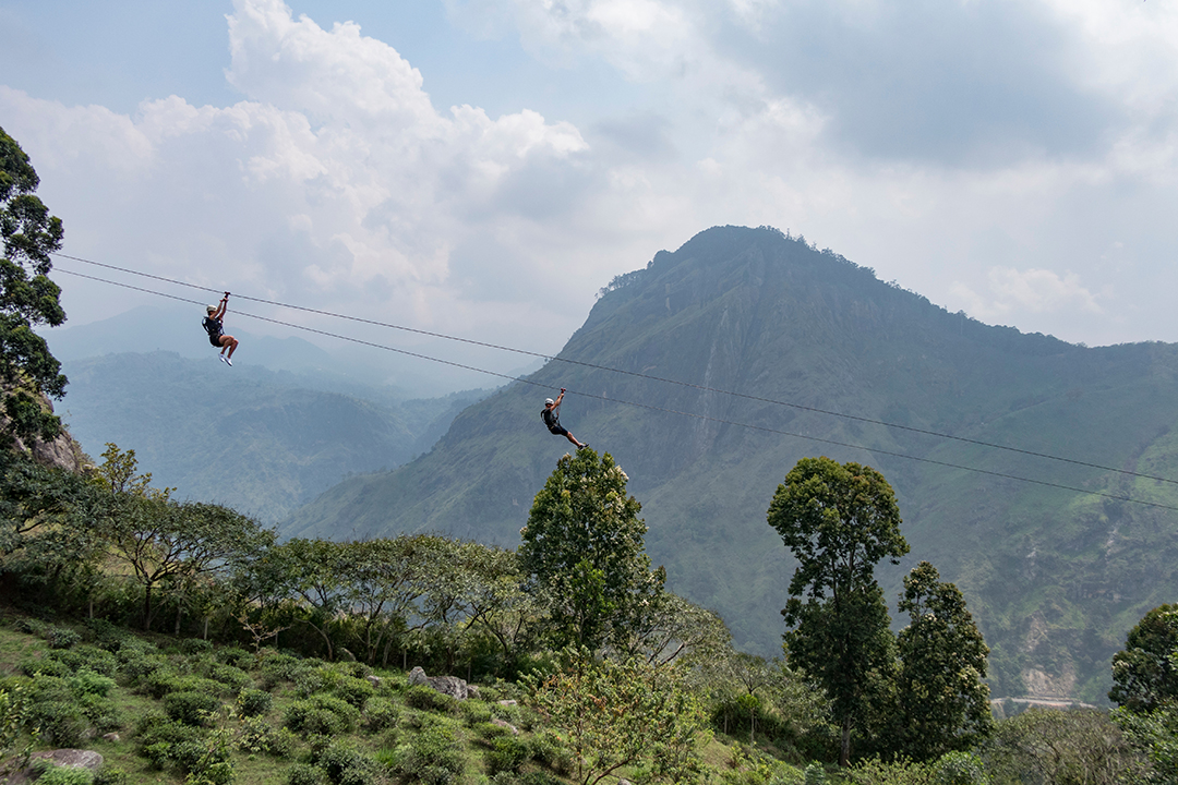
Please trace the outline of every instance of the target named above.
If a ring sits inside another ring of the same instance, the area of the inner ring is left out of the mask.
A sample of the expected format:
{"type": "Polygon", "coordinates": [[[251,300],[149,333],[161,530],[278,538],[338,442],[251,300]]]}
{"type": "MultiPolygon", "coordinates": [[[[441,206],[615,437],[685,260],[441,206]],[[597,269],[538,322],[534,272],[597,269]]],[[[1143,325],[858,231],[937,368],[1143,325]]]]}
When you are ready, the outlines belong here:
{"type": "MultiPolygon", "coordinates": [[[[542,353],[726,224],[1178,341],[1176,115],[1178,0],[0,0],[0,127],[65,253],[542,353]]],[[[55,280],[74,325],[158,302],[55,280]]]]}

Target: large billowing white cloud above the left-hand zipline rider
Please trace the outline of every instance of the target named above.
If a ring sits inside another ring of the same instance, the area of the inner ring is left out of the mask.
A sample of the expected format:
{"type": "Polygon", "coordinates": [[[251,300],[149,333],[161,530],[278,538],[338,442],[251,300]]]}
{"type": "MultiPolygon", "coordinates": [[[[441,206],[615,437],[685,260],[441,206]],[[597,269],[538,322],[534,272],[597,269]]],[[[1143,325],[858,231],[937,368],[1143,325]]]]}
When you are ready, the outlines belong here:
{"type": "MultiPolygon", "coordinates": [[[[172,95],[125,117],[0,88],[67,240],[87,239],[70,250],[287,301],[444,318],[450,251],[479,222],[519,220],[501,189],[587,149],[577,128],[534,111],[438,112],[421,74],[356,25],[325,31],[278,0],[236,0],[229,21],[226,75],[249,98],[233,106],[172,95]]],[[[529,250],[516,252],[527,267],[529,250]]]]}

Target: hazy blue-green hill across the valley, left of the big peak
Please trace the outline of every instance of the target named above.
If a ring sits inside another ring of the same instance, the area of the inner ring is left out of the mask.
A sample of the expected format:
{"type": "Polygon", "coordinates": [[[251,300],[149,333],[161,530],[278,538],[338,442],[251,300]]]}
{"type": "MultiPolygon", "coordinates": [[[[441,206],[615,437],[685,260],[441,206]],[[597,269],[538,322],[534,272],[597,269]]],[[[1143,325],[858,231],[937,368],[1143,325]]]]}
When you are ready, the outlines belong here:
{"type": "Polygon", "coordinates": [[[227,368],[212,351],[203,360],[107,354],[68,360],[64,370],[70,387],[58,412],[92,458],[108,441],[134,450],[157,486],[266,523],[349,474],[422,453],[485,394],[405,401],[373,388],[365,399],[322,390],[339,386],[338,377],[227,368]]]}

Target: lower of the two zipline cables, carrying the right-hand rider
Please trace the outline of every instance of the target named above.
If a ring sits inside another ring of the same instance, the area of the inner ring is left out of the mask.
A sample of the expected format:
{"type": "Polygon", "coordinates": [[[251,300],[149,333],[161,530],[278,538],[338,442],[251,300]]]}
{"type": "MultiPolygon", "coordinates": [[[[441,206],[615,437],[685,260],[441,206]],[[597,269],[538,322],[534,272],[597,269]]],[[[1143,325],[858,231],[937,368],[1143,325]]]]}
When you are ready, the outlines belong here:
{"type": "MultiPolygon", "coordinates": [[[[164,298],[167,298],[170,300],[179,300],[180,302],[191,302],[193,305],[203,305],[199,300],[190,300],[188,298],[177,297],[174,294],[166,294],[164,292],[157,292],[154,290],[143,288],[143,287],[139,287],[139,286],[132,286],[130,284],[121,284],[119,281],[112,281],[112,280],[107,280],[105,278],[98,278],[95,275],[87,275],[85,273],[79,273],[79,272],[74,272],[74,271],[70,271],[70,270],[62,270],[60,267],[58,268],[58,272],[65,273],[67,275],[74,275],[77,278],[85,278],[87,280],[98,281],[98,282],[101,282],[101,284],[110,284],[111,286],[119,286],[121,288],[131,290],[131,291],[134,291],[134,292],[144,292],[146,294],[154,294],[157,297],[164,297],[164,298]]],[[[216,292],[218,290],[209,290],[209,291],[216,292]]],[[[521,384],[531,385],[534,387],[541,387],[543,390],[551,390],[552,388],[551,386],[549,386],[547,384],[543,384],[543,382],[540,382],[540,381],[534,381],[531,379],[527,379],[527,378],[523,378],[523,377],[512,377],[512,375],[507,374],[507,373],[498,373],[496,371],[488,371],[485,368],[478,368],[478,367],[475,367],[472,365],[463,365],[462,362],[454,362],[452,360],[443,360],[441,358],[430,357],[428,354],[421,354],[418,352],[410,352],[408,350],[396,348],[393,346],[386,346],[384,344],[377,344],[375,341],[368,341],[368,340],[363,340],[363,339],[359,339],[359,338],[351,338],[349,335],[340,335],[338,333],[331,333],[331,332],[327,332],[325,330],[316,330],[315,327],[306,327],[304,325],[296,325],[296,324],[290,322],[290,321],[282,321],[279,319],[271,319],[269,317],[262,317],[262,315],[258,315],[256,313],[247,313],[247,312],[244,312],[244,311],[234,311],[233,313],[236,315],[247,317],[250,319],[257,319],[259,321],[266,321],[266,322],[270,322],[272,325],[280,325],[280,326],[284,326],[284,327],[291,327],[293,330],[303,330],[303,331],[306,331],[306,332],[310,332],[310,333],[315,333],[317,335],[325,335],[327,338],[336,338],[338,340],[351,341],[353,344],[359,344],[362,346],[370,346],[370,347],[373,347],[373,348],[385,350],[385,351],[389,351],[389,352],[396,352],[397,354],[403,354],[403,355],[406,355],[406,357],[413,357],[413,358],[418,358],[418,359],[422,359],[422,360],[430,360],[431,362],[439,362],[442,365],[449,365],[451,367],[462,368],[464,371],[474,371],[476,373],[483,373],[483,374],[496,377],[496,378],[499,378],[499,379],[507,379],[509,381],[518,381],[521,384]]],[[[628,401],[628,400],[622,400],[622,399],[618,399],[618,398],[608,398],[605,395],[597,395],[597,394],[594,394],[594,393],[577,392],[575,390],[571,391],[571,392],[574,394],[581,395],[583,398],[591,398],[591,399],[595,399],[595,400],[601,400],[601,401],[605,401],[605,403],[610,403],[610,404],[622,404],[624,406],[635,406],[635,407],[638,407],[638,408],[646,408],[646,410],[650,410],[650,411],[655,411],[655,412],[663,412],[663,413],[667,413],[667,414],[679,414],[679,415],[682,415],[682,417],[690,417],[690,418],[694,418],[694,419],[697,419],[697,420],[708,421],[708,423],[717,423],[717,424],[721,424],[721,425],[732,425],[732,426],[735,426],[735,427],[749,428],[752,431],[761,431],[763,433],[772,433],[772,434],[775,434],[775,435],[792,437],[792,438],[795,438],[795,439],[806,439],[808,441],[818,441],[818,443],[821,443],[821,444],[834,445],[834,446],[838,446],[838,447],[849,447],[852,450],[862,450],[862,451],[868,452],[868,453],[874,453],[874,454],[880,454],[880,455],[889,455],[892,458],[904,458],[906,460],[914,460],[914,461],[918,461],[918,463],[921,463],[921,464],[929,464],[929,465],[933,465],[933,466],[941,466],[941,467],[945,467],[945,468],[955,468],[955,470],[960,470],[960,471],[965,471],[965,472],[974,472],[977,474],[986,474],[986,475],[995,477],[995,478],[1000,478],[1000,479],[1015,480],[1015,481],[1019,481],[1019,483],[1030,483],[1032,485],[1039,485],[1039,486],[1048,487],[1048,488],[1057,488],[1057,490],[1060,490],[1060,491],[1070,491],[1072,493],[1080,493],[1080,494],[1085,494],[1085,495],[1098,495],[1098,497],[1103,497],[1105,499],[1111,499],[1113,501],[1125,501],[1125,503],[1129,503],[1129,504],[1139,504],[1139,505],[1144,505],[1144,506],[1147,506],[1147,507],[1157,507],[1159,510],[1170,510],[1170,511],[1178,512],[1178,506],[1160,504],[1160,503],[1157,503],[1157,501],[1145,501],[1145,500],[1141,500],[1141,499],[1134,499],[1132,497],[1118,495],[1116,493],[1108,493],[1106,491],[1091,491],[1091,490],[1086,490],[1086,488],[1078,488],[1078,487],[1073,487],[1071,485],[1063,485],[1060,483],[1050,483],[1047,480],[1035,480],[1035,479],[1031,479],[1031,478],[1027,478],[1027,477],[1019,477],[1017,474],[1007,474],[1005,472],[994,472],[994,471],[991,471],[991,470],[987,470],[987,468],[977,468],[974,466],[965,466],[965,465],[961,465],[961,464],[951,464],[948,461],[935,460],[935,459],[932,459],[932,458],[920,458],[918,455],[908,455],[908,454],[905,454],[905,453],[893,452],[893,451],[888,451],[888,450],[876,450],[874,447],[867,447],[865,445],[856,445],[856,444],[851,444],[851,443],[847,443],[847,441],[836,441],[834,439],[823,439],[821,437],[812,437],[812,435],[806,435],[803,433],[793,433],[790,431],[781,431],[781,430],[777,430],[777,428],[766,427],[763,425],[749,425],[748,423],[739,423],[736,420],[726,420],[726,419],[722,419],[722,418],[710,417],[710,415],[707,415],[707,414],[696,414],[694,412],[684,412],[684,411],[681,411],[681,410],[666,408],[666,407],[662,407],[662,406],[655,406],[653,404],[640,404],[640,403],[636,403],[636,401],[628,401]]]]}

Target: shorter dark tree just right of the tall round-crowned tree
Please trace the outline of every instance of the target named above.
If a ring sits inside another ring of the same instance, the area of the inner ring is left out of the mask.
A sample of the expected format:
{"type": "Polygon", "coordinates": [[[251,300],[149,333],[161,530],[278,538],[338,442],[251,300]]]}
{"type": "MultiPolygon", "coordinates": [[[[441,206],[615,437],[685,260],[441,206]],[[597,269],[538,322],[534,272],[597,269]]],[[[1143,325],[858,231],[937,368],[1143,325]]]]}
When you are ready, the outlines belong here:
{"type": "Polygon", "coordinates": [[[986,657],[990,650],[957,586],[921,561],[905,576],[896,637],[900,672],[899,747],[916,760],[966,750],[992,729],[986,657]]]}

